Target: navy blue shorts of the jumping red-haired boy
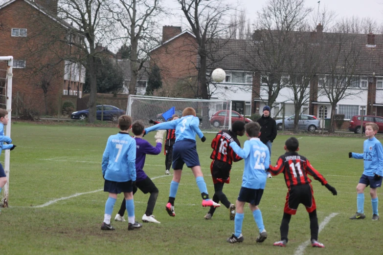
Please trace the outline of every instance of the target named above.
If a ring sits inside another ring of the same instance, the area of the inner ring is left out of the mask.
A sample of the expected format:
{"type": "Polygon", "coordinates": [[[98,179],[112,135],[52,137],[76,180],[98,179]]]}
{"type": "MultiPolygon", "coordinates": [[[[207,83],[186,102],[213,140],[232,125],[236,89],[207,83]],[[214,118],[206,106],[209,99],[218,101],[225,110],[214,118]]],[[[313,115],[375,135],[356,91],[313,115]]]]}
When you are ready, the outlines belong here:
{"type": "Polygon", "coordinates": [[[183,164],[188,168],[201,166],[196,141],[185,139],[173,145],[173,169],[182,170],[183,164]]]}

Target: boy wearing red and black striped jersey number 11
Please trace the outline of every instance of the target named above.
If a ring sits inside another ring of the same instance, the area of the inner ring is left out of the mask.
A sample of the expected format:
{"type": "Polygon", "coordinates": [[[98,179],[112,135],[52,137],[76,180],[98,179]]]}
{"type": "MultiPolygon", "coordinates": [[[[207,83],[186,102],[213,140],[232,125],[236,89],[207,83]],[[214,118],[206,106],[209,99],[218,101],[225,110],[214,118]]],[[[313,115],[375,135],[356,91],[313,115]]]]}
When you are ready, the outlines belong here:
{"type": "Polygon", "coordinates": [[[275,242],[274,246],[286,247],[291,215],[296,213],[299,204],[303,204],[310,217],[311,246],[324,248],[324,245],[317,241],[319,226],[318,218],[316,217],[314,191],[313,186],[310,184],[311,180],[307,174],[310,174],[315,180],[318,180],[331,191],[333,195],[337,195],[337,190],[327,183],[326,179],[315,170],[307,158],[297,153],[299,150],[299,142],[295,137],[290,137],[286,140],[284,149],[286,153],[278,158],[275,167],[270,166],[269,169],[272,175],[284,173],[286,185],[289,190],[286,196],[286,204],[280,227],[281,240],[275,242]]]}

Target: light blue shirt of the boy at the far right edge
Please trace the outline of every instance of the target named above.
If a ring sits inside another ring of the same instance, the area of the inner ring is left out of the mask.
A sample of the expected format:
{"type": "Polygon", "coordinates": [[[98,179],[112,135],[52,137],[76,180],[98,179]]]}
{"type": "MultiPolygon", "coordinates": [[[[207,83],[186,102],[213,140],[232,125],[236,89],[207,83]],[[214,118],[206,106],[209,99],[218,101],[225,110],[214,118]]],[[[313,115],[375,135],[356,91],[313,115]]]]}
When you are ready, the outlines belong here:
{"type": "Polygon", "coordinates": [[[352,153],[352,157],[364,160],[363,174],[383,176],[383,148],[382,143],[375,137],[367,139],[363,143],[363,153],[352,153]]]}

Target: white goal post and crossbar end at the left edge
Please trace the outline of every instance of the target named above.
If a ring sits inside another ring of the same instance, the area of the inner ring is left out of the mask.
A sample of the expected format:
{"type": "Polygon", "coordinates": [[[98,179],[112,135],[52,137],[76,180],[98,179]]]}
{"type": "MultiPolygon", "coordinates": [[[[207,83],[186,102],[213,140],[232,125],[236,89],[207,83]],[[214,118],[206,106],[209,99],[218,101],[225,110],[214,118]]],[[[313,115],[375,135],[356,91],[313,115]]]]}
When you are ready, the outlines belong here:
{"type": "MultiPolygon", "coordinates": [[[[11,116],[12,116],[12,66],[13,66],[13,57],[12,56],[6,56],[6,57],[0,57],[0,61],[7,62],[7,71],[6,71],[6,77],[5,77],[5,90],[6,90],[6,98],[5,98],[5,105],[6,110],[8,111],[8,125],[5,128],[5,134],[7,136],[11,136],[11,116]]],[[[10,161],[10,150],[7,149],[4,152],[4,171],[7,176],[7,183],[5,184],[3,191],[3,198],[2,198],[2,207],[8,207],[8,195],[9,195],[9,161],[10,161]]]]}

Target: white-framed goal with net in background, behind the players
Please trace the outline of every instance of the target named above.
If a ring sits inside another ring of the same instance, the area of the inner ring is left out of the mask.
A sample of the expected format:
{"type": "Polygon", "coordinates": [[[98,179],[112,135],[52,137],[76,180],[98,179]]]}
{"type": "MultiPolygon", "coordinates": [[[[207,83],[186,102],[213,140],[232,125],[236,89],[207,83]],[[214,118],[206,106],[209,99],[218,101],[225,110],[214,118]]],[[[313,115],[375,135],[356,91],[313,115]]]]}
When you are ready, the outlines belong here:
{"type": "MultiPolygon", "coordinates": [[[[126,113],[133,121],[142,120],[145,126],[151,126],[149,120],[164,122],[163,113],[174,107],[174,113],[182,117],[186,107],[193,107],[200,118],[200,129],[203,132],[218,132],[231,127],[231,101],[202,100],[185,98],[167,98],[129,95],[126,113]]],[[[166,116],[166,114],[165,114],[166,116]]]]}

